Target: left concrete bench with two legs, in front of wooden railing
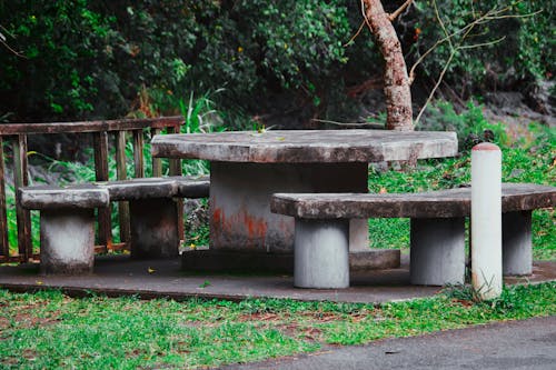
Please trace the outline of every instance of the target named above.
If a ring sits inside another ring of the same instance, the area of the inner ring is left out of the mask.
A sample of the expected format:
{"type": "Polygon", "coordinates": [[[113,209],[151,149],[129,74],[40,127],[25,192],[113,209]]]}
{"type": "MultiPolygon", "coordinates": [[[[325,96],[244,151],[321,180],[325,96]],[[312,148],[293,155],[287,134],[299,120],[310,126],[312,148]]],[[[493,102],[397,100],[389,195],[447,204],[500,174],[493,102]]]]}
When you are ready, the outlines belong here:
{"type": "Polygon", "coordinates": [[[178,256],[180,243],[173,198],[206,198],[208,194],[208,178],[170,177],[88,186],[26,187],[19,189],[18,199],[23,208],[41,211],[42,271],[82,273],[92,270],[95,233],[90,230],[95,227],[95,208],[108,207],[111,201],[129,201],[131,256],[168,258],[178,256]],[[53,228],[54,223],[59,227],[53,228]],[[73,237],[85,233],[85,229],[87,238],[73,237]],[[70,253],[67,251],[77,254],[59,256],[70,253]]]}

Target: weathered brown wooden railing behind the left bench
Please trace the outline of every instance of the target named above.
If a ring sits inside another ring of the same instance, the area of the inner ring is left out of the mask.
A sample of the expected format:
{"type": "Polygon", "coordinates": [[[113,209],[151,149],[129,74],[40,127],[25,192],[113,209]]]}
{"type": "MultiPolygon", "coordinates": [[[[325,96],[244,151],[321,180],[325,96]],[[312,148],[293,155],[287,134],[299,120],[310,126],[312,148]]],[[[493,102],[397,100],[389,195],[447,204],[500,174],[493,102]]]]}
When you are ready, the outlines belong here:
{"type": "MultiPolygon", "coordinates": [[[[110,121],[83,121],[83,122],[54,122],[54,123],[0,123],[0,262],[28,261],[33,256],[31,241],[31,217],[28,210],[22,209],[16,201],[18,251],[10,253],[8,242],[8,218],[6,201],[6,170],[4,170],[4,142],[11,142],[13,153],[13,188],[29,184],[28,174],[28,136],[51,133],[79,133],[91,134],[95,152],[95,173],[97,181],[109,180],[109,144],[113,140],[116,147],[116,173],[117,180],[128,178],[126,142],[128,137],[132,138],[135,177],[145,177],[143,138],[162,133],[179,132],[183,122],[182,117],[166,117],[157,119],[125,119],[110,121]],[[146,132],[148,131],[148,132],[146,132]]],[[[181,174],[180,160],[169,161],[169,174],[181,174]]],[[[162,162],[159,158],[152,159],[152,176],[162,176],[162,162]]],[[[181,204],[178,204],[180,207],[181,204]]],[[[120,243],[112,242],[111,210],[98,211],[98,251],[126,249],[129,241],[129,206],[120,202],[118,206],[120,223],[120,243]]],[[[182,214],[179,212],[178,214],[182,214]]],[[[183,234],[183,222],[180,220],[180,234],[183,234]]]]}

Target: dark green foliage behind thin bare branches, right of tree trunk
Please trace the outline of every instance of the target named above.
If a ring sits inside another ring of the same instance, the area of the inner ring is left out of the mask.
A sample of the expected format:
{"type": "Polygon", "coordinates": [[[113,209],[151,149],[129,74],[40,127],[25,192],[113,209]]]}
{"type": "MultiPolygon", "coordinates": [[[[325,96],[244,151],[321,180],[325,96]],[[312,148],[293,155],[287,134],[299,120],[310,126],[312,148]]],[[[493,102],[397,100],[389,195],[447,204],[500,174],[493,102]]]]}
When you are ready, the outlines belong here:
{"type": "Polygon", "coordinates": [[[446,34],[450,43],[440,43],[423,63],[423,73],[436,79],[447,63],[454,48],[465,47],[455,53],[447,69],[446,81],[465,98],[485,89],[515,88],[520,81],[550,79],[554,70],[555,23],[549,1],[451,1],[436,0],[440,27],[435,12],[435,0],[416,2],[415,43],[411,59],[417,59],[446,34]],[[477,23],[470,32],[460,32],[488,11],[488,19],[477,23]],[[464,40],[465,39],[465,40],[464,40]],[[497,41],[499,42],[494,42],[497,41]],[[475,47],[481,44],[481,47],[475,47]]]}

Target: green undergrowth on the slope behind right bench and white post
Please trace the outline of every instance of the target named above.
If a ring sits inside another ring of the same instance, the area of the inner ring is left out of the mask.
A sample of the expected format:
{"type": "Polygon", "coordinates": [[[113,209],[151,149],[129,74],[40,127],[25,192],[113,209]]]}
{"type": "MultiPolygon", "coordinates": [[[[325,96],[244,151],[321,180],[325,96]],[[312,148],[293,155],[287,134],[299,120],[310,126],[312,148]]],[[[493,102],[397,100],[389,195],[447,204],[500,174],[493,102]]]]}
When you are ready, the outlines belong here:
{"type": "MultiPolygon", "coordinates": [[[[460,139],[460,156],[448,159],[419,161],[416,168],[394,167],[387,171],[371,168],[369,190],[371,192],[418,192],[457,188],[470,183],[470,148],[464,146],[465,138],[475,134],[483,138],[484,130],[492,130],[494,141],[503,153],[503,181],[532,182],[554,186],[556,183],[556,129],[530,122],[527,130],[512,128],[504,122],[490,123],[485,119],[480,106],[468,104],[468,109],[456,113],[447,102],[429,109],[429,117],[420,129],[457,130],[460,139]],[[516,131],[517,130],[517,131],[516,131]]],[[[556,218],[554,210],[533,212],[533,244],[535,259],[556,258],[556,218]]],[[[409,247],[408,219],[370,219],[369,239],[373,248],[409,247]]]]}

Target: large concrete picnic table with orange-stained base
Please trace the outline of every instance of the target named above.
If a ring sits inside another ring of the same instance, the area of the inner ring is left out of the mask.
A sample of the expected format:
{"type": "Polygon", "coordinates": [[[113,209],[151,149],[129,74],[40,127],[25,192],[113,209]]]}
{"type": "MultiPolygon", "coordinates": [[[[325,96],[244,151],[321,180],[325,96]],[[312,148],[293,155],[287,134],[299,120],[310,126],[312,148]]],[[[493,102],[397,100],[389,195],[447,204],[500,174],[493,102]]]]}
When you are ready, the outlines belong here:
{"type": "MultiPolygon", "coordinates": [[[[457,153],[455,132],[230,131],[161,134],[153,157],[210,161],[210,249],[291,253],[294,218],[276,192],[368,192],[368,163],[457,153]]],[[[368,249],[367,220],[350,221],[350,251],[368,249]]]]}

